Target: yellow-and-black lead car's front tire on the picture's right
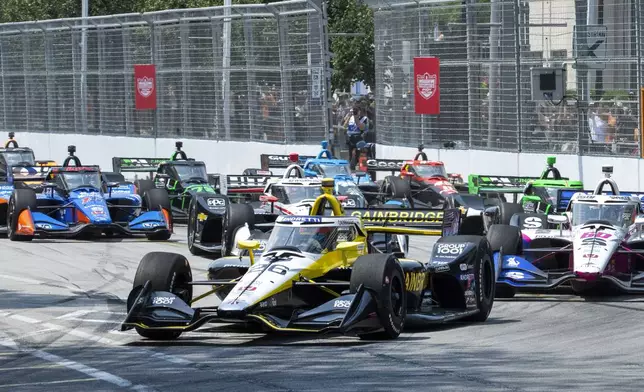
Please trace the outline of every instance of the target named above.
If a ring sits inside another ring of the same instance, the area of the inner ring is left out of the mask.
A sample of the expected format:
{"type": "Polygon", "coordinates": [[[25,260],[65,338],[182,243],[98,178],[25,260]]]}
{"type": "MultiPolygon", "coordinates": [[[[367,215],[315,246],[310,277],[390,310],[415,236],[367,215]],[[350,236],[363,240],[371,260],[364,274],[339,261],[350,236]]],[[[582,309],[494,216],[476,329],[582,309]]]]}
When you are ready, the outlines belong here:
{"type": "Polygon", "coordinates": [[[391,254],[360,256],[351,272],[349,291],[356,293],[360,285],[376,296],[378,319],[382,331],[358,335],[360,339],[388,340],[400,335],[407,316],[407,292],[403,269],[391,254]],[[383,284],[383,282],[390,282],[383,284]]]}

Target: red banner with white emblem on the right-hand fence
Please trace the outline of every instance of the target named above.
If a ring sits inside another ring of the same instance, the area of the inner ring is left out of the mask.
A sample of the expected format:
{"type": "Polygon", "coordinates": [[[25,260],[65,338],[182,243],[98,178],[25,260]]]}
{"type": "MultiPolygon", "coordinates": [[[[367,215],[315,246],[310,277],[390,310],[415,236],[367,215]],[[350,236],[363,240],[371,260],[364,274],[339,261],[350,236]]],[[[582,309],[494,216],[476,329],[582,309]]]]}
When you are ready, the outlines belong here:
{"type": "Polygon", "coordinates": [[[414,58],[414,108],[416,114],[441,113],[440,61],[438,57],[414,58]]]}

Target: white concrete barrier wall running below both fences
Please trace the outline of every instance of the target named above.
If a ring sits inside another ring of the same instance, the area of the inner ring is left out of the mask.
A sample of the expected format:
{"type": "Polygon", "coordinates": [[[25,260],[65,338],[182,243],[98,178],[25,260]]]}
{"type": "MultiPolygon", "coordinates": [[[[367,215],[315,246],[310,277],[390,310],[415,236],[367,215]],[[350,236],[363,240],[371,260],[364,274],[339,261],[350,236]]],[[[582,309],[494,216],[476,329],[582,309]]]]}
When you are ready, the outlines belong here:
{"type": "MultiPolygon", "coordinates": [[[[53,159],[59,163],[67,156],[67,146],[76,146],[76,155],[84,164],[112,168],[112,157],[170,157],[178,139],[146,139],[90,135],[21,133],[17,140],[22,146],[33,148],[36,159],[53,159]]],[[[211,140],[183,140],[188,157],[206,162],[209,173],[241,173],[249,167],[259,167],[260,154],[316,155],[319,144],[284,146],[256,142],[217,142],[211,140]]],[[[417,150],[412,147],[378,146],[379,158],[413,159],[417,150]]],[[[447,171],[461,173],[465,178],[472,173],[496,175],[537,176],[545,166],[546,157],[553,154],[527,154],[482,150],[426,149],[429,159],[445,162],[447,171]]],[[[602,166],[614,167],[613,178],[624,190],[644,191],[640,173],[643,160],[636,158],[578,157],[555,155],[557,167],[563,176],[581,179],[586,188],[593,188],[603,178],[602,166]]]]}

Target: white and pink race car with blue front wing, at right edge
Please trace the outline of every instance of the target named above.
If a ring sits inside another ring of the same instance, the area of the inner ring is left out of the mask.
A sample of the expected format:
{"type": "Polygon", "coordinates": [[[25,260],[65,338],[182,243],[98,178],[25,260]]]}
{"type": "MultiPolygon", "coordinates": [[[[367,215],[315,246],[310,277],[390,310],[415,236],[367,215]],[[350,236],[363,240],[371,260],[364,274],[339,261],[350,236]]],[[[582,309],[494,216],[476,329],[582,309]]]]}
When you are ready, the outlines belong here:
{"type": "Polygon", "coordinates": [[[612,168],[604,172],[607,178],[590,194],[576,193],[563,215],[517,214],[514,226],[490,228],[497,294],[568,283],[580,295],[604,288],[644,292],[642,195],[620,192],[612,168]]]}

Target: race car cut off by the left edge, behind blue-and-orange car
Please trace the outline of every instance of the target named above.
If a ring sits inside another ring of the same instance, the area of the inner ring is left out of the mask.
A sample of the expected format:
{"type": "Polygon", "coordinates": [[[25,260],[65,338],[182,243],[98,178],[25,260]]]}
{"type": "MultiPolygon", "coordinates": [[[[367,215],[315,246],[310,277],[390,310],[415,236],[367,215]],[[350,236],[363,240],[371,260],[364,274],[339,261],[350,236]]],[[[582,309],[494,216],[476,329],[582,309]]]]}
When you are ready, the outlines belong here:
{"type": "Polygon", "coordinates": [[[54,161],[37,161],[31,148],[20,147],[15,134],[0,148],[0,233],[7,232],[7,206],[16,186],[30,187],[43,182],[54,161]]]}

